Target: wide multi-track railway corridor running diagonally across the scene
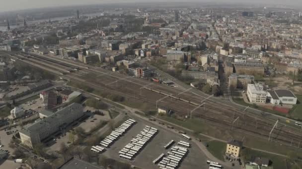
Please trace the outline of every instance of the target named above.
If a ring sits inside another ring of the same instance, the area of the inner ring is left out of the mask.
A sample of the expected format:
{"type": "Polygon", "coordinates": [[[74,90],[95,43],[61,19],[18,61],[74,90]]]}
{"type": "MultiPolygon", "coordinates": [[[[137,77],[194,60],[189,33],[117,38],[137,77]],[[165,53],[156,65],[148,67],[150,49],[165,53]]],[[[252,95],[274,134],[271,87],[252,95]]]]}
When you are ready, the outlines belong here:
{"type": "MultiPolygon", "coordinates": [[[[206,98],[205,96],[192,94],[190,92],[184,92],[178,95],[178,93],[184,90],[167,87],[160,84],[151,84],[146,80],[137,78],[125,79],[124,75],[112,73],[111,71],[101,68],[94,68],[90,66],[87,67],[86,65],[82,65],[74,61],[67,62],[63,59],[27,53],[14,54],[12,57],[33,66],[51,71],[57,75],[62,75],[62,72],[66,72],[64,76],[67,78],[84,83],[92,88],[124,95],[129,98],[137,99],[141,102],[152,104],[154,107],[155,101],[162,98],[162,95],[171,95],[171,98],[163,99],[159,104],[174,107],[175,110],[177,110],[177,114],[182,116],[188,115],[190,110],[193,110],[197,105],[200,104],[201,100],[206,98]],[[73,68],[78,68],[79,70],[69,71],[73,68]],[[116,87],[117,85],[119,85],[119,87],[116,87]],[[148,90],[147,87],[144,88],[146,85],[149,85],[149,89],[154,89],[162,93],[148,90]],[[142,89],[142,95],[140,95],[138,89],[142,87],[144,89],[142,89]],[[146,97],[146,95],[148,95],[148,97],[146,97]],[[183,100],[180,100],[179,98],[183,100]]],[[[236,126],[234,126],[234,130],[240,133],[248,133],[261,138],[267,138],[268,133],[273,127],[273,121],[265,118],[264,116],[251,116],[229,105],[224,105],[222,107],[219,104],[220,103],[216,100],[208,99],[205,105],[206,111],[204,111],[203,107],[201,107],[195,111],[193,117],[199,117],[210,124],[224,129],[230,129],[234,118],[239,117],[236,126]],[[257,124],[256,127],[255,122],[257,124]]],[[[300,145],[302,134],[298,130],[292,130],[290,128],[281,126],[273,131],[271,138],[273,138],[273,141],[287,145],[300,145]]]]}

